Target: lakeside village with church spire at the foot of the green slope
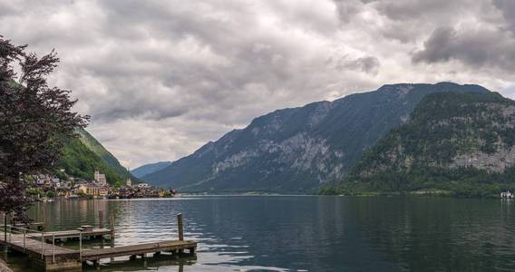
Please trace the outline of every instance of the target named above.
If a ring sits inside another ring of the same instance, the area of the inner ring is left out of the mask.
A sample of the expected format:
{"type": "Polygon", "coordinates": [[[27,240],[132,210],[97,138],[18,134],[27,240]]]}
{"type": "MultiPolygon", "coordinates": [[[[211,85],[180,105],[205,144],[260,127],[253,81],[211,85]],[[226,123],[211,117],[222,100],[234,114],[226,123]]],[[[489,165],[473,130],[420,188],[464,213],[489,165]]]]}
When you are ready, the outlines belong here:
{"type": "MultiPolygon", "coordinates": [[[[63,172],[64,170],[61,170],[63,172]]],[[[62,180],[50,175],[31,176],[31,194],[36,195],[42,201],[52,201],[54,198],[64,199],[142,199],[142,198],[173,198],[176,195],[174,189],[165,190],[150,186],[147,183],[132,184],[131,178],[127,178],[125,184],[111,186],[107,183],[105,174],[95,170],[93,180],[83,180],[70,177],[62,180]]]]}

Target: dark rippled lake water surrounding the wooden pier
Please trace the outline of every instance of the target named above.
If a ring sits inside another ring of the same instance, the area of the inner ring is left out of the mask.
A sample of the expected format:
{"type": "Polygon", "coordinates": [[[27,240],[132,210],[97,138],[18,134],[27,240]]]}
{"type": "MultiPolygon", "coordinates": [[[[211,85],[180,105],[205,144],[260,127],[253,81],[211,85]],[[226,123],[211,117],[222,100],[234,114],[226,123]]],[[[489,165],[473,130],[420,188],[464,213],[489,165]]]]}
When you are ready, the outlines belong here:
{"type": "MultiPolygon", "coordinates": [[[[177,238],[178,213],[184,215],[185,237],[199,242],[196,260],[107,259],[102,271],[515,269],[515,201],[318,196],[66,200],[39,203],[33,216],[47,222],[46,229],[71,229],[97,225],[98,210],[116,215],[116,245],[177,238]]],[[[16,269],[29,270],[23,257],[4,257],[16,269]]]]}

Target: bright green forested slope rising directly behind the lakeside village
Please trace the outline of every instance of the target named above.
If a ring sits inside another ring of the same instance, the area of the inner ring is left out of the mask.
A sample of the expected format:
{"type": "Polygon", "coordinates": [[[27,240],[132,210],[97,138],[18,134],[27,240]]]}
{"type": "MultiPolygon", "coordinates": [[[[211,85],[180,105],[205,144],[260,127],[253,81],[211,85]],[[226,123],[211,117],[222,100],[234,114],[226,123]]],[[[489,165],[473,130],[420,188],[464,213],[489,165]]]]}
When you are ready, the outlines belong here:
{"type": "MultiPolygon", "coordinates": [[[[67,140],[64,145],[60,168],[73,177],[88,180],[93,179],[95,170],[100,170],[110,184],[127,179],[127,170],[121,166],[120,161],[88,131],[79,129],[77,134],[77,138],[67,140]]],[[[138,181],[132,175],[131,180],[138,181]]]]}

